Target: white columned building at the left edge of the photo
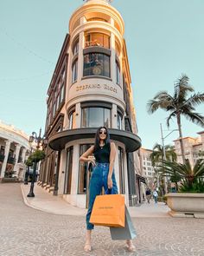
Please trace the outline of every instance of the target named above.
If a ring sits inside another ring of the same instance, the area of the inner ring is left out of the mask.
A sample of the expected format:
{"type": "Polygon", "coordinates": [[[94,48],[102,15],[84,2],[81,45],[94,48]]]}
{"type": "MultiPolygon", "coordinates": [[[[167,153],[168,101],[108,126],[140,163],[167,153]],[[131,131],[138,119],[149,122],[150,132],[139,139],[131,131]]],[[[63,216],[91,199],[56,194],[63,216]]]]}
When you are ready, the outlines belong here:
{"type": "Polygon", "coordinates": [[[0,180],[15,175],[22,181],[29,152],[29,136],[0,121],[0,180]]]}

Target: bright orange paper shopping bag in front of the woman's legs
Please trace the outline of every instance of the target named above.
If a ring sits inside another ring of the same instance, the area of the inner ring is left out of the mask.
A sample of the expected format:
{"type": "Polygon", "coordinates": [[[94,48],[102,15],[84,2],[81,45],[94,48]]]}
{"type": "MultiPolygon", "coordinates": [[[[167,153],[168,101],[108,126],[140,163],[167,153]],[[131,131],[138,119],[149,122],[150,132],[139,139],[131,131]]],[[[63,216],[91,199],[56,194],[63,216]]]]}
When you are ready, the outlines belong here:
{"type": "Polygon", "coordinates": [[[122,194],[98,195],[92,207],[90,222],[97,226],[124,227],[124,196],[122,194]]]}

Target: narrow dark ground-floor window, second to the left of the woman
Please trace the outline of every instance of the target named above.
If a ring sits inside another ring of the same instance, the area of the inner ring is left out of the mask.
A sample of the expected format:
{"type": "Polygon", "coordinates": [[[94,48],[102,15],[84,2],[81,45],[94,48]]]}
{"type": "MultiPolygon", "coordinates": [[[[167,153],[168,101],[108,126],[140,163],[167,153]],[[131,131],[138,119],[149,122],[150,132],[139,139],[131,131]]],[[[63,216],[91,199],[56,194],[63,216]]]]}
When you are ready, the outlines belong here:
{"type": "Polygon", "coordinates": [[[67,149],[64,194],[71,194],[72,171],[73,171],[73,147],[70,147],[67,149]]]}

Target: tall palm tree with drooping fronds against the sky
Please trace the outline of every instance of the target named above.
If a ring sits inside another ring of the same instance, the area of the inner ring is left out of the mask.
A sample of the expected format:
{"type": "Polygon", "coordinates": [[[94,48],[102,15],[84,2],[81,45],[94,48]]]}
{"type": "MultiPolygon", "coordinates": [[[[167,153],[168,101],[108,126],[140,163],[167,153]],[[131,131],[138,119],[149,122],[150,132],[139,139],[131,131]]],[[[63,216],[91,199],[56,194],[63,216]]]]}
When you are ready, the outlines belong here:
{"type": "Polygon", "coordinates": [[[185,153],[182,141],[181,116],[184,115],[189,121],[197,123],[204,127],[204,116],[195,112],[195,107],[204,102],[204,93],[194,93],[192,86],[188,84],[188,76],[182,75],[175,82],[174,95],[169,95],[167,91],[160,91],[153,100],[148,102],[148,112],[153,114],[158,108],[169,112],[167,126],[172,117],[176,118],[179,130],[179,137],[182,149],[182,161],[185,162],[185,153]],[[188,96],[191,92],[193,95],[188,96]]]}

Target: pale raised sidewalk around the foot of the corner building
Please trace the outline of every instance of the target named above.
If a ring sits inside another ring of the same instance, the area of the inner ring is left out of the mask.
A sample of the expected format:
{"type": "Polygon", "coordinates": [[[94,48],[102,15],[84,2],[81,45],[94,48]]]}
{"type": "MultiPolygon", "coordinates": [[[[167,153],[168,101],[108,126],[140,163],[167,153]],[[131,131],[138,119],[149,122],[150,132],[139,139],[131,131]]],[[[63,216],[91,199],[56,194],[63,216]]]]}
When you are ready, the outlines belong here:
{"type": "MultiPolygon", "coordinates": [[[[22,196],[24,203],[33,207],[37,210],[41,210],[46,213],[54,213],[61,215],[73,215],[73,216],[85,216],[86,209],[82,209],[79,207],[73,207],[66,200],[63,200],[61,196],[54,196],[53,194],[49,194],[48,191],[44,190],[42,187],[35,185],[34,187],[34,198],[27,197],[29,194],[29,185],[21,185],[22,188],[22,196]]],[[[137,218],[171,218],[169,217],[169,207],[164,203],[159,202],[155,204],[153,200],[148,204],[144,202],[141,206],[138,207],[129,207],[129,211],[131,217],[137,218]]]]}

